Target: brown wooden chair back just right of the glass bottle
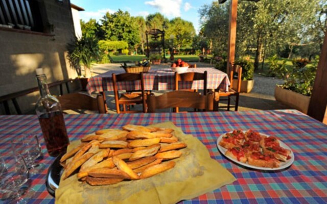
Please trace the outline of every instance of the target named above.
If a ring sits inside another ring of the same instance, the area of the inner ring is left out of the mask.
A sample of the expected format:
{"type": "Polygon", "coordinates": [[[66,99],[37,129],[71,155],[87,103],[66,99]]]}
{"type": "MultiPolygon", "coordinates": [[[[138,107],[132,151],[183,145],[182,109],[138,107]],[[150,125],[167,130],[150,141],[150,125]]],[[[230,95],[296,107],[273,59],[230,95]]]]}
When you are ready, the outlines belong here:
{"type": "Polygon", "coordinates": [[[68,93],[58,96],[58,100],[62,110],[90,110],[106,113],[101,94],[93,97],[86,93],[68,93]]]}

